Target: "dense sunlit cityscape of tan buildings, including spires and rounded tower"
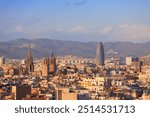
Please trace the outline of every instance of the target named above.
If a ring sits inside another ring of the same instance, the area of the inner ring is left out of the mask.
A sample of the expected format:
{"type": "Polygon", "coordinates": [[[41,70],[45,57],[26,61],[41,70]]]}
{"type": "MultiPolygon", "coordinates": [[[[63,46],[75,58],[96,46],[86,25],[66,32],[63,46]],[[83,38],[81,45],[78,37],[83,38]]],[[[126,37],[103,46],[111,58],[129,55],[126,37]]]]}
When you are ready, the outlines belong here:
{"type": "Polygon", "coordinates": [[[0,100],[150,100],[150,56],[122,63],[95,46],[96,61],[53,52],[34,59],[30,44],[26,59],[0,57],[0,100]]]}

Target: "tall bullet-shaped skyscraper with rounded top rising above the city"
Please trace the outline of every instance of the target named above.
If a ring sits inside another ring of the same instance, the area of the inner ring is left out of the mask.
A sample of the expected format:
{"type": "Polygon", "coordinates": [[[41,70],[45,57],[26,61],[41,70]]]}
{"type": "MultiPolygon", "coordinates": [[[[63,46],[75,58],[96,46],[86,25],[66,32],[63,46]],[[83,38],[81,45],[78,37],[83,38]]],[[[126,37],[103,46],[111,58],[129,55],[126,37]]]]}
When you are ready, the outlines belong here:
{"type": "Polygon", "coordinates": [[[102,42],[97,42],[96,45],[96,66],[104,65],[104,47],[102,42]]]}

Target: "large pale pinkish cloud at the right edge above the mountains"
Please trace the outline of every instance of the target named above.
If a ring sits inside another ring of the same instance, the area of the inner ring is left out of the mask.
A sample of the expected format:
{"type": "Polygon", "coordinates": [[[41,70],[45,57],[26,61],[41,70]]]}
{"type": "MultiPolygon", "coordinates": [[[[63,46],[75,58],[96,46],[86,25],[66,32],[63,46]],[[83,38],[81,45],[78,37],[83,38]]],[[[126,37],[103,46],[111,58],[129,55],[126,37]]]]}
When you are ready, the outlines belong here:
{"type": "Polygon", "coordinates": [[[121,24],[113,34],[117,38],[129,41],[142,41],[150,39],[150,26],[144,24],[121,24]]]}

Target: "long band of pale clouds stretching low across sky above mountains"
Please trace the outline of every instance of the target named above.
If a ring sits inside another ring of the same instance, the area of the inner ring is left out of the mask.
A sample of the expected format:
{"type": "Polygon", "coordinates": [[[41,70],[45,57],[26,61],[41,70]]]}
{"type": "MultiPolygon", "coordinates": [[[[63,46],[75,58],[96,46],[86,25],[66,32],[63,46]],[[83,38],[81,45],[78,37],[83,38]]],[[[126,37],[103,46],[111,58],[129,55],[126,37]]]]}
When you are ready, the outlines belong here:
{"type": "MultiPolygon", "coordinates": [[[[77,38],[104,39],[104,41],[131,41],[131,42],[146,42],[150,41],[150,25],[146,24],[130,24],[122,23],[115,26],[108,25],[104,27],[75,25],[72,28],[68,27],[40,27],[38,25],[29,26],[23,24],[13,24],[7,30],[2,30],[3,35],[13,34],[16,37],[54,37],[68,38],[77,35],[77,38]],[[59,36],[61,35],[61,36],[59,36]],[[69,36],[68,36],[69,35],[69,36]]],[[[89,39],[89,40],[90,40],[89,39]]]]}

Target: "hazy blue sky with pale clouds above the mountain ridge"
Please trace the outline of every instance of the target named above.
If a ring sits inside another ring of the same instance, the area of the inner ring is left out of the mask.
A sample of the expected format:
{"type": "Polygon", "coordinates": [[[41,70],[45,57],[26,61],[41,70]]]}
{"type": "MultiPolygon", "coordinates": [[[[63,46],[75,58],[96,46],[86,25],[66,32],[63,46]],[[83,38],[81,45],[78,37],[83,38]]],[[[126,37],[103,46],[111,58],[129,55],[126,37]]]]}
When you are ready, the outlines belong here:
{"type": "Polygon", "coordinates": [[[0,41],[150,41],[150,0],[0,0],[0,41]]]}

